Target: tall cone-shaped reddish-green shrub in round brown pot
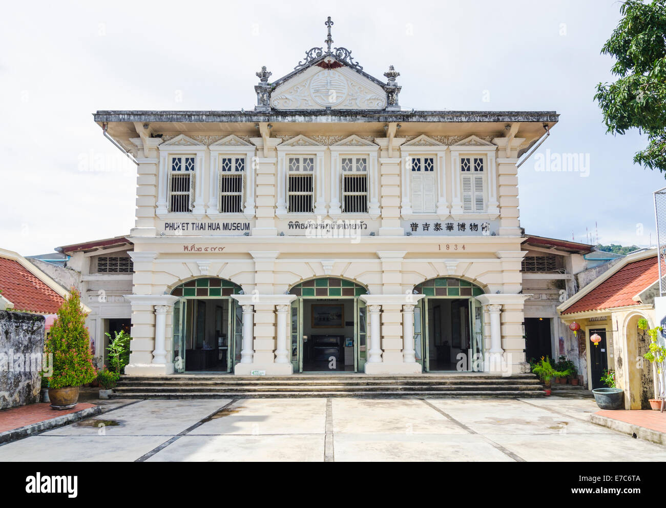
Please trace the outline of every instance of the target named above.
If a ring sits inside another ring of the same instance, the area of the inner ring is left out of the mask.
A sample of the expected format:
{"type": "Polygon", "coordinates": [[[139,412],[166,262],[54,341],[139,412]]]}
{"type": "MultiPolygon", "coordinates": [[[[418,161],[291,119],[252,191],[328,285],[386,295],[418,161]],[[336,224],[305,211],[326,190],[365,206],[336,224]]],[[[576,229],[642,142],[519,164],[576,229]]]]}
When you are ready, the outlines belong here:
{"type": "Polygon", "coordinates": [[[48,377],[49,399],[53,409],[74,407],[79,401],[81,385],[95,379],[85,317],[81,309],[81,295],[72,288],[69,298],[58,309],[58,317],[44,347],[44,353],[53,355],[53,372],[48,377]]]}

